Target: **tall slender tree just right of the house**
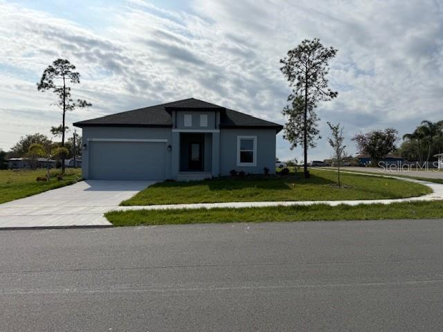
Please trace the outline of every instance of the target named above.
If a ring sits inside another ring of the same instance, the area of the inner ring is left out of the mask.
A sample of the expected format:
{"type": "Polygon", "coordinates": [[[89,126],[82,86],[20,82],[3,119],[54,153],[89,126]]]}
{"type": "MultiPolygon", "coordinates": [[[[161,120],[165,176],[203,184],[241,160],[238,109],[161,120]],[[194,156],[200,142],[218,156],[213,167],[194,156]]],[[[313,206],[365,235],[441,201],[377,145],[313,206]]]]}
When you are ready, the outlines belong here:
{"type": "Polygon", "coordinates": [[[338,92],[328,89],[326,79],[329,73],[329,60],[334,58],[337,50],[333,47],[326,48],[320,39],[305,39],[293,50],[289,50],[287,57],[280,59],[283,66],[280,71],[287,78],[292,92],[288,101],[292,107],[283,110],[284,115],[289,115],[289,120],[284,126],[284,138],[291,142],[291,149],[298,144],[303,146],[304,173],[307,171],[307,149],[315,146],[314,140],[318,138],[316,122],[319,120],[314,109],[320,101],[336,98],[338,92]],[[301,123],[296,123],[300,121],[301,123]]]}

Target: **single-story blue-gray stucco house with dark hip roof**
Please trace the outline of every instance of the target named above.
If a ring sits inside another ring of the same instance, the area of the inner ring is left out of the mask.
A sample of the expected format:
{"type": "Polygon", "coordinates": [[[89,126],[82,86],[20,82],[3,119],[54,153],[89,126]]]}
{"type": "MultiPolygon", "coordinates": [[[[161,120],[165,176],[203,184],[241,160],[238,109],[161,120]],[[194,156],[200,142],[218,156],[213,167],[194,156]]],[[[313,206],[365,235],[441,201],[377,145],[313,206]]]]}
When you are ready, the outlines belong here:
{"type": "Polygon", "coordinates": [[[74,123],[86,179],[189,180],[275,172],[282,126],[194,98],[74,123]]]}

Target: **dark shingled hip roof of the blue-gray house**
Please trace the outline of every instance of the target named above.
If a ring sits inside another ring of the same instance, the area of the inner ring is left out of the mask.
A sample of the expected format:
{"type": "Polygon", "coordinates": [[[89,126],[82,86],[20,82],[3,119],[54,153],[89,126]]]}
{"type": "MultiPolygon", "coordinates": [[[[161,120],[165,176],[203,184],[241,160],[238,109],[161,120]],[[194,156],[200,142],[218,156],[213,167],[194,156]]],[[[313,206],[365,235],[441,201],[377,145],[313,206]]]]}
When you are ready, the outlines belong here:
{"type": "Polygon", "coordinates": [[[189,98],[142,109],[111,114],[101,118],[75,122],[75,127],[172,127],[172,111],[219,111],[221,128],[273,128],[283,126],[245,113],[226,109],[210,102],[189,98]]]}

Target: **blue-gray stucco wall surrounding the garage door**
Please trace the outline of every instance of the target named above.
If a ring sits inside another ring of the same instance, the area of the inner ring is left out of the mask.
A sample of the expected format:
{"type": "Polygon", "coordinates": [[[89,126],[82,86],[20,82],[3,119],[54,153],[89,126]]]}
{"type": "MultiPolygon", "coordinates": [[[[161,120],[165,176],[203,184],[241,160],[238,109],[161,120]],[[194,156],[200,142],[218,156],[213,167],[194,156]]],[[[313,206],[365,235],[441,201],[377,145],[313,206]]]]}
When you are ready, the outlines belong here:
{"type": "MultiPolygon", "coordinates": [[[[89,178],[89,153],[91,151],[89,138],[167,139],[165,147],[172,144],[170,128],[84,127],[82,129],[82,143],[87,144],[87,149],[82,153],[83,178],[89,178]]],[[[144,156],[143,158],[152,158],[152,156],[144,156]]],[[[165,158],[165,178],[171,178],[171,152],[166,151],[165,158]]],[[[114,162],[121,163],[118,156],[115,156],[114,162]]]]}

